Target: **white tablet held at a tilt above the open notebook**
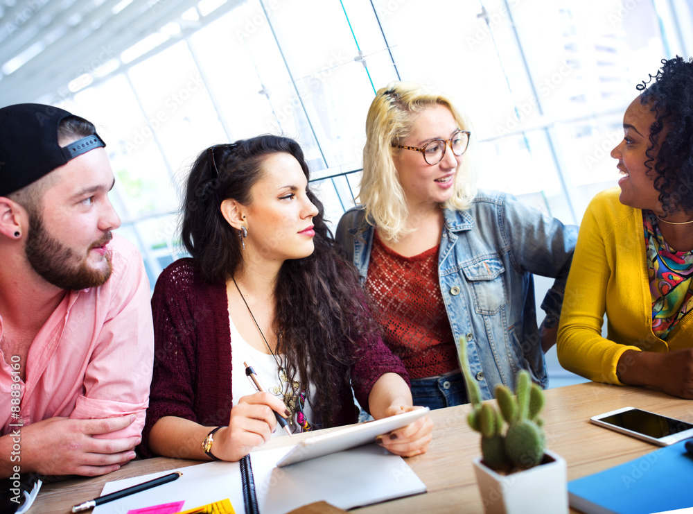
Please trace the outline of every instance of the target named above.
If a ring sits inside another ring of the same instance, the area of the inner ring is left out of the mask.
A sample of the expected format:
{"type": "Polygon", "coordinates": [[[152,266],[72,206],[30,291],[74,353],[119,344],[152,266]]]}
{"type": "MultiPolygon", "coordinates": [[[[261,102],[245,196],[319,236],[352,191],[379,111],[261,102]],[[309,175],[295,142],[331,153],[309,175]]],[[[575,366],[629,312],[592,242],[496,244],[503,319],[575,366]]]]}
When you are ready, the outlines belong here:
{"type": "Polygon", "coordinates": [[[382,420],[369,421],[354,427],[335,430],[329,434],[309,437],[302,440],[294,449],[283,456],[277,462],[277,468],[373,443],[376,437],[409,425],[422,416],[426,416],[429,410],[428,407],[423,407],[422,409],[397,414],[382,420]]]}

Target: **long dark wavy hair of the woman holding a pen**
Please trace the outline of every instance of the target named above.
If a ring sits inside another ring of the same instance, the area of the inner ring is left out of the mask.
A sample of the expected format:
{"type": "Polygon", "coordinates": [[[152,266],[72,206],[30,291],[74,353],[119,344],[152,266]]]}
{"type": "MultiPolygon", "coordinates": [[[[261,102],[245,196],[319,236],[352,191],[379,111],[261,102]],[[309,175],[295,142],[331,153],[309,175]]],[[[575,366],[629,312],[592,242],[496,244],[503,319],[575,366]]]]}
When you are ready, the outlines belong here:
{"type": "MultiPolygon", "coordinates": [[[[243,266],[238,231],[222,216],[220,203],[226,198],[250,203],[252,187],[263,176],[265,158],[282,152],[295,157],[308,178],[301,147],[286,137],[263,135],[212,147],[195,160],[186,185],[181,236],[207,282],[226,282],[243,266]]],[[[334,398],[339,384],[344,384],[344,369],[360,357],[356,341],[373,341],[378,329],[369,316],[356,268],[342,257],[325,223],[322,203],[312,191],[307,194],[318,210],[313,218],[315,250],[281,266],[274,287],[272,328],[277,334],[277,353],[285,357],[288,384],[296,378],[302,388],[307,388],[309,378],[319,384],[311,390],[310,406],[320,425],[329,427],[341,407],[334,398]]],[[[315,425],[316,420],[310,421],[315,425]]]]}

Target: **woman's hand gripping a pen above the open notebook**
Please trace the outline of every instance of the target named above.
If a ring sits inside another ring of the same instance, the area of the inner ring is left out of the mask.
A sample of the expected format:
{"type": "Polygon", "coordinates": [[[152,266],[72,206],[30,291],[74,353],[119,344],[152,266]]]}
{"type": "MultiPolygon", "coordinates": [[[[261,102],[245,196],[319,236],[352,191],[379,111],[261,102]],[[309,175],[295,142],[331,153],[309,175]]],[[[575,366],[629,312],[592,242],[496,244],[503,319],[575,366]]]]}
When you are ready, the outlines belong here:
{"type": "Polygon", "coordinates": [[[274,412],[286,418],[286,405],[270,393],[243,396],[231,409],[229,426],[214,434],[211,452],[222,461],[240,461],[255,447],[267,443],[277,429],[274,412]]]}

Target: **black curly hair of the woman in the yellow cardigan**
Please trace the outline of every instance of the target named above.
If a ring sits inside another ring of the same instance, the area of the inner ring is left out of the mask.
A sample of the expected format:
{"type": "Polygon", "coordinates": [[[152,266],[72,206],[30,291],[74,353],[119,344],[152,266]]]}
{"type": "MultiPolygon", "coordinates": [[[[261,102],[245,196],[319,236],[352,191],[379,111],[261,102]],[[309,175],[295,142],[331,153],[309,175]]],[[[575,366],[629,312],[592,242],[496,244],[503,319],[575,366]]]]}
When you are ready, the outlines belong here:
{"type": "Polygon", "coordinates": [[[677,55],[662,65],[637,89],[640,103],[655,114],[644,164],[655,172],[654,187],[666,216],[693,212],[693,58],[677,55]]]}

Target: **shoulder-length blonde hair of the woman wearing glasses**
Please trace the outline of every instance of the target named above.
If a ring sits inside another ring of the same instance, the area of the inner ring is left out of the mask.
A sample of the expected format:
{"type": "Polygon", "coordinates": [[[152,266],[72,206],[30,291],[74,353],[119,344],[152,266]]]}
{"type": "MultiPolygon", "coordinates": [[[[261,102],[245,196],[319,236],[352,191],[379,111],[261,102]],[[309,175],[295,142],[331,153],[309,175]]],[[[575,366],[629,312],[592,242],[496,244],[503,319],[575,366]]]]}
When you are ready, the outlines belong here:
{"type": "Polygon", "coordinates": [[[410,232],[409,212],[404,190],[392,159],[399,144],[411,132],[413,117],[431,105],[444,105],[457,121],[457,127],[472,132],[462,164],[457,166],[453,196],[441,207],[464,210],[476,194],[476,138],[471,122],[457,110],[448,96],[420,84],[391,82],[378,89],[366,117],[366,145],[363,148],[363,174],[358,198],[366,217],[387,240],[410,232]]]}

